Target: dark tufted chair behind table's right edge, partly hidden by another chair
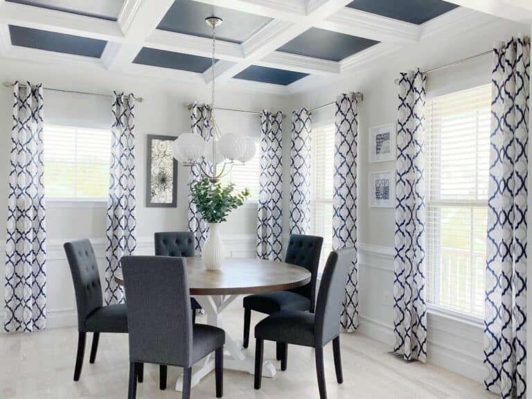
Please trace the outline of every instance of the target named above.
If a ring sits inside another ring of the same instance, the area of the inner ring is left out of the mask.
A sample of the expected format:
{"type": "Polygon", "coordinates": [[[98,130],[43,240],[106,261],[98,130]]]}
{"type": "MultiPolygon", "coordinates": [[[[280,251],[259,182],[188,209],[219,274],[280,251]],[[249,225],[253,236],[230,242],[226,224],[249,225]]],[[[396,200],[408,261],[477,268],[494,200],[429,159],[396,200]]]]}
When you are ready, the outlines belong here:
{"type": "MultiPolygon", "coordinates": [[[[285,262],[308,269],[312,277],[310,283],[290,291],[265,292],[244,298],[244,348],[249,345],[249,326],[251,310],[272,314],[279,310],[303,310],[314,312],[314,296],[316,295],[316,279],[318,276],[319,257],[323,238],[292,234],[288,242],[285,262]]],[[[281,360],[278,347],[277,360],[281,360]]]]}

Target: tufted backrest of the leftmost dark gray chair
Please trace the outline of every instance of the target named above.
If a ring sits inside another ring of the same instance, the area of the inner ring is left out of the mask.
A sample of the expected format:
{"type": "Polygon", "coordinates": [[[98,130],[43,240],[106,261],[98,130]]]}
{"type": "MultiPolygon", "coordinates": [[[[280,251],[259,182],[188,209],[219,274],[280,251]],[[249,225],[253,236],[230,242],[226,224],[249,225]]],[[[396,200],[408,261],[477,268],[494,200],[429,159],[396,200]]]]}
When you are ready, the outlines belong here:
{"type": "Polygon", "coordinates": [[[65,242],[64,251],[69,260],[70,272],[76,292],[78,330],[85,331],[85,320],[103,305],[102,285],[98,263],[89,240],[65,242]]]}

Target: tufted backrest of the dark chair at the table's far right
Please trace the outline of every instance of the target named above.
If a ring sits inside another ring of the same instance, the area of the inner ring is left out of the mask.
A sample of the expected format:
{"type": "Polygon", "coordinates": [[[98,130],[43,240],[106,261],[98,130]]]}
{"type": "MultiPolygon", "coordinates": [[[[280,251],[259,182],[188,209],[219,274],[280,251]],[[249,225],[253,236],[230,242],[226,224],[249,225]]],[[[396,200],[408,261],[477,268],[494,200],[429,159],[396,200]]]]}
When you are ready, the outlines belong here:
{"type": "Polygon", "coordinates": [[[297,294],[301,294],[310,299],[311,312],[314,312],[316,280],[318,277],[321,245],[323,245],[323,237],[291,234],[285,256],[286,263],[305,267],[305,269],[307,269],[312,275],[310,283],[303,285],[303,287],[291,290],[292,292],[296,292],[297,294]]]}

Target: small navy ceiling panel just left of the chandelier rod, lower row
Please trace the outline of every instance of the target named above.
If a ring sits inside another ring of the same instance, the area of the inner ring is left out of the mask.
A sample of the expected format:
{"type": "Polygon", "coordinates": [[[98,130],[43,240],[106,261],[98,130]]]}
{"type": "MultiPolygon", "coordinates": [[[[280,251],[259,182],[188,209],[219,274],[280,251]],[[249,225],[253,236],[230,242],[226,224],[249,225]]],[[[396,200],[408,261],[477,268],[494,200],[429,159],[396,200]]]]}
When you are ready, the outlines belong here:
{"type": "Polygon", "coordinates": [[[182,71],[203,73],[211,67],[211,58],[199,57],[172,51],[157,50],[143,47],[133,60],[135,64],[150,65],[152,67],[181,69],[182,71]]]}

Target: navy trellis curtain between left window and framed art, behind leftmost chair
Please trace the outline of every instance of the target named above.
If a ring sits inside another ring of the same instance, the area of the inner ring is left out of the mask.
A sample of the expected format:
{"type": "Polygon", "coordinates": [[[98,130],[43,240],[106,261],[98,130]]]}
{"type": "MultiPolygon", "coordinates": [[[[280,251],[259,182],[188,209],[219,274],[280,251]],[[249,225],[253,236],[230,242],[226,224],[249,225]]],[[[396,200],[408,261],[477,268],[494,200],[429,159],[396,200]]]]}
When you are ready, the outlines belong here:
{"type": "Polygon", "coordinates": [[[105,302],[123,303],[123,288],[114,281],[122,256],[136,249],[135,200],[135,97],[113,94],[112,144],[107,198],[107,248],[105,259],[105,302]]]}

